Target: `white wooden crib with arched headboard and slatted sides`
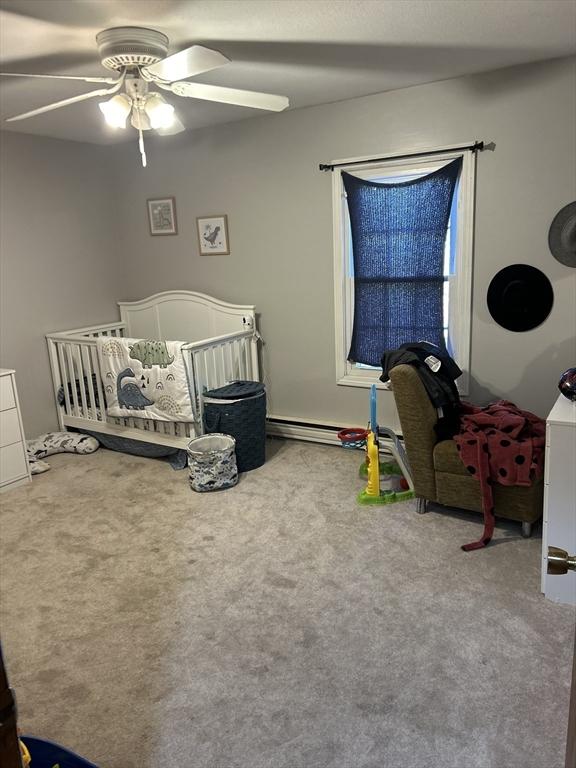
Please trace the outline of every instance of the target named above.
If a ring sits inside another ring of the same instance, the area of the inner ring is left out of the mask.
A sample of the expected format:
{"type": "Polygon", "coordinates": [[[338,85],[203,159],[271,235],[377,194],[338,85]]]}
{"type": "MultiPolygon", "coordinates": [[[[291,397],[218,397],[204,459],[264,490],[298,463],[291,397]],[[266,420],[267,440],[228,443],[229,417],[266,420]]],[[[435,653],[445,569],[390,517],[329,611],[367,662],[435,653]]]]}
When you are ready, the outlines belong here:
{"type": "Polygon", "coordinates": [[[234,380],[260,380],[253,306],[193,291],[165,291],[118,306],[120,321],[46,336],[61,430],[87,429],[185,448],[203,433],[203,392],[234,380]],[[96,349],[99,336],[185,341],[182,354],[194,421],[109,416],[96,349]]]}

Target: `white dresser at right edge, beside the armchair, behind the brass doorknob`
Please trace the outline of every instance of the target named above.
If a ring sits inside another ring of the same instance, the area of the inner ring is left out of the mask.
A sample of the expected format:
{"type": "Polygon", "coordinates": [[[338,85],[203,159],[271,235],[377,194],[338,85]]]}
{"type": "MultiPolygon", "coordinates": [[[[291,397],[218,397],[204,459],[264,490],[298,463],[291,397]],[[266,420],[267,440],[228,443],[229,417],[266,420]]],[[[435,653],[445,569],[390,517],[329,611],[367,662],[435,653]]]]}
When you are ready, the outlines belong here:
{"type": "Polygon", "coordinates": [[[546,419],[542,592],[557,603],[576,605],[576,572],[549,575],[549,546],[576,554],[576,402],[564,395],[546,419]]]}

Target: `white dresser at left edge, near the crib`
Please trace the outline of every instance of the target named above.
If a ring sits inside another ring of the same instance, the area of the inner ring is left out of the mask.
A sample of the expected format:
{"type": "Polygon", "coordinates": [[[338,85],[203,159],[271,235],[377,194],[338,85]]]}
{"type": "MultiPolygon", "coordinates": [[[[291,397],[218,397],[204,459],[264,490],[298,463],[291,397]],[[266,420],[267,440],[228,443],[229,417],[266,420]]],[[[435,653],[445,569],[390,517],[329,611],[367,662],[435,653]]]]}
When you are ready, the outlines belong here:
{"type": "Polygon", "coordinates": [[[0,368],[0,490],[30,480],[15,371],[0,368]]]}

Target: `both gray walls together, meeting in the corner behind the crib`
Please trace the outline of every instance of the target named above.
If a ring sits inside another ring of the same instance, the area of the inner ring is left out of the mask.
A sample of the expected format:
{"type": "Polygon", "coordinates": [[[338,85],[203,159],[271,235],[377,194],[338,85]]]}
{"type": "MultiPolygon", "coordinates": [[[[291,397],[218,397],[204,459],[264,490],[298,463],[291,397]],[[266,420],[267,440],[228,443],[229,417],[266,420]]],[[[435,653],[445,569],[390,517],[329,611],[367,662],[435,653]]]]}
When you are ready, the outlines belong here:
{"type": "MultiPolygon", "coordinates": [[[[500,70],[148,142],[96,147],[3,134],[0,364],[18,371],[28,436],[55,427],[44,334],[116,317],[118,299],[171,288],[254,303],[269,410],[365,424],[368,391],[335,383],[332,210],[318,162],[482,138],[471,397],[545,415],[575,364],[576,270],[547,247],[576,198],[575,60],[500,70]],[[179,235],[151,237],[146,198],[175,195],[179,235]],[[199,256],[196,216],[227,213],[230,256],[199,256]],[[525,334],[484,297],[501,267],[543,269],[556,300],[525,334]]],[[[381,423],[396,425],[393,396],[381,423]]]]}

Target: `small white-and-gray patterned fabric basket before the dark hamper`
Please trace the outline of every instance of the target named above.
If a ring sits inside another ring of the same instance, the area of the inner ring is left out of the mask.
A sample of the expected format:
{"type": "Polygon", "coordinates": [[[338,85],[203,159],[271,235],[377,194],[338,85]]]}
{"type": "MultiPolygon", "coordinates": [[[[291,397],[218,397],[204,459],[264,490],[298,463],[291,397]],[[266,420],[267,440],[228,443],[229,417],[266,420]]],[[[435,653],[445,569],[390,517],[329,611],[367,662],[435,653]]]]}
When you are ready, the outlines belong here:
{"type": "Polygon", "coordinates": [[[188,443],[190,487],[194,491],[221,491],[238,482],[236,441],[216,433],[196,437],[188,443]]]}

